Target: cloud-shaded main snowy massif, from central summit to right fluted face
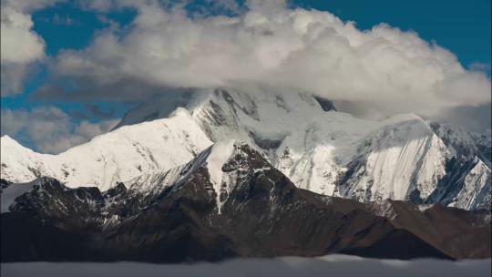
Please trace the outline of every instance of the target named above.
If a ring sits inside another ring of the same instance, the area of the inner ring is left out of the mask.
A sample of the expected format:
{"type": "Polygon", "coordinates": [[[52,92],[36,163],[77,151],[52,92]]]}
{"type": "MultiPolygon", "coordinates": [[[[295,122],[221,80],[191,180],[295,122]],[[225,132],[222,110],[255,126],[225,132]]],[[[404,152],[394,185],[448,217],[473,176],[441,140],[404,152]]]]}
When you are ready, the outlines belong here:
{"type": "MultiPolygon", "coordinates": [[[[210,140],[247,141],[298,187],[325,195],[424,203],[446,175],[448,160],[460,153],[415,114],[363,120],[327,112],[308,94],[215,89],[201,97],[190,110],[210,140]]],[[[477,171],[490,174],[487,165],[477,171]]],[[[486,183],[465,182],[477,190],[486,183]]]]}

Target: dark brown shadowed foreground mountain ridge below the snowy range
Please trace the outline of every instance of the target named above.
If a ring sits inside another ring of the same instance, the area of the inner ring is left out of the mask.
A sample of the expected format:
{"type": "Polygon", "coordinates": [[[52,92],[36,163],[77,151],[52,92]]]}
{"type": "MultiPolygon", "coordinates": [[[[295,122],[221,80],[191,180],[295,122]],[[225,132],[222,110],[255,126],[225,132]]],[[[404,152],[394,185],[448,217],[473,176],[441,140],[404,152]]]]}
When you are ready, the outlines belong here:
{"type": "MultiPolygon", "coordinates": [[[[3,201],[15,186],[3,185],[3,201]]],[[[2,262],[190,262],[334,252],[490,257],[487,213],[360,203],[298,189],[259,152],[235,142],[104,192],[42,178],[1,220],[2,262]]]]}

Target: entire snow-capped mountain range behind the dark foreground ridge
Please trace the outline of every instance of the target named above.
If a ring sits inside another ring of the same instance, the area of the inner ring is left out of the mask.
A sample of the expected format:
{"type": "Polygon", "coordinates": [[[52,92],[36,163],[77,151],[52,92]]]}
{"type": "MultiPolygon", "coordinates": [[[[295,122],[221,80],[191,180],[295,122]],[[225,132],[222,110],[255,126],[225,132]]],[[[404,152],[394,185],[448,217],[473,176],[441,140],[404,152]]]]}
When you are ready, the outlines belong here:
{"type": "Polygon", "coordinates": [[[3,137],[2,178],[26,182],[46,175],[69,187],[108,190],[118,181],[185,164],[214,142],[237,139],[297,187],[316,193],[489,208],[487,143],[466,137],[472,135],[450,137],[415,114],[365,120],[307,93],[225,88],[197,91],[169,115],[169,107],[156,108],[129,111],[112,132],[58,155],[3,137]]]}

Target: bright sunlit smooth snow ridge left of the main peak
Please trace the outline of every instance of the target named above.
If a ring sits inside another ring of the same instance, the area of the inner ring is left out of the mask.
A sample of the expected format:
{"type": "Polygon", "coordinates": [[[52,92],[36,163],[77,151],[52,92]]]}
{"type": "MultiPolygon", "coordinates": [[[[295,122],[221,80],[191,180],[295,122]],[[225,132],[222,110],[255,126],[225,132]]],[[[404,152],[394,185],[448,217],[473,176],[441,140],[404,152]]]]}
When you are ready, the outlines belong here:
{"type": "Polygon", "coordinates": [[[184,108],[165,119],[118,128],[57,155],[38,154],[1,139],[2,179],[27,182],[50,176],[69,187],[108,190],[143,172],[171,169],[193,159],[211,141],[184,108]]]}

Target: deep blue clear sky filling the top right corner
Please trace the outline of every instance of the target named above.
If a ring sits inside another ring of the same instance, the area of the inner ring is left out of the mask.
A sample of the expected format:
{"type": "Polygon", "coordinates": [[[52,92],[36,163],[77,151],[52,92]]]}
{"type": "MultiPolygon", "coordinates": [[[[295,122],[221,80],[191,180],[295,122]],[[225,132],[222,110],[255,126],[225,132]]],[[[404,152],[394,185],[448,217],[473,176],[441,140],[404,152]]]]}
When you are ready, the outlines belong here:
{"type": "Polygon", "coordinates": [[[363,29],[385,22],[402,30],[414,30],[425,40],[453,51],[465,66],[490,64],[490,0],[299,2],[331,11],[343,20],[353,20],[363,29]]]}

